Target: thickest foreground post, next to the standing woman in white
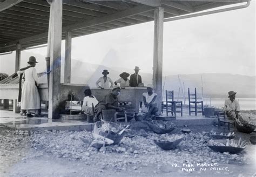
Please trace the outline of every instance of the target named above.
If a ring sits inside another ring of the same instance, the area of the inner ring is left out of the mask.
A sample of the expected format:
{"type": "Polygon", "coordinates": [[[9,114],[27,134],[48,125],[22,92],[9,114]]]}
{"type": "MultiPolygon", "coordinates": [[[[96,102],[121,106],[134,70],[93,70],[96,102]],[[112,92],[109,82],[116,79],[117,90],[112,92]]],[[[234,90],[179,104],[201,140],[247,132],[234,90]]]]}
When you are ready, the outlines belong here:
{"type": "Polygon", "coordinates": [[[59,117],[58,105],[60,98],[60,60],[62,46],[62,0],[52,0],[50,11],[51,32],[50,42],[50,80],[49,80],[49,111],[48,118],[59,117]]]}

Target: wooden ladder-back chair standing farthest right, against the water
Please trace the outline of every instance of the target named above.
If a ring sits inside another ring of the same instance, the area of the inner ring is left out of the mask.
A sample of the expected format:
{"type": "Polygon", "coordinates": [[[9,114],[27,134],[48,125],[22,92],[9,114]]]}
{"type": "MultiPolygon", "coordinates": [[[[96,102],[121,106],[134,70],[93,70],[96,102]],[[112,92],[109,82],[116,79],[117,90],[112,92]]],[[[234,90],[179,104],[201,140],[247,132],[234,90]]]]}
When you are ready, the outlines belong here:
{"type": "Polygon", "coordinates": [[[202,113],[202,115],[204,115],[204,103],[203,100],[197,100],[197,88],[194,88],[194,93],[190,93],[190,88],[188,88],[188,108],[190,115],[191,112],[194,112],[195,115],[197,115],[197,113],[202,113]],[[191,108],[194,108],[194,110],[191,108]]]}

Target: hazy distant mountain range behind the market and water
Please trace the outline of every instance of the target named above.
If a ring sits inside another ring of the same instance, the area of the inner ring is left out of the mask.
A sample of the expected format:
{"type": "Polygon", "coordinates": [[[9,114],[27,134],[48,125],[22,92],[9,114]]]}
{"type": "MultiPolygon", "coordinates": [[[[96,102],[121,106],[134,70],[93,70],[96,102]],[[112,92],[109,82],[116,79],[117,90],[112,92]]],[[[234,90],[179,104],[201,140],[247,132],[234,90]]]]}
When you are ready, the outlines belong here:
{"type": "MultiPolygon", "coordinates": [[[[26,58],[29,58],[31,53],[23,52],[22,54],[22,67],[26,66],[26,58]]],[[[115,53],[113,51],[107,53],[104,64],[112,62],[111,58],[115,58],[115,53]]],[[[42,55],[36,55],[38,64],[36,66],[37,72],[45,71],[45,58],[42,55]]],[[[1,72],[6,72],[8,74],[14,73],[14,61],[15,56],[10,55],[8,59],[9,63],[1,62],[1,72]]],[[[64,62],[62,62],[62,79],[64,76],[64,62]]],[[[89,84],[91,87],[96,87],[95,83],[99,77],[102,77],[102,71],[106,69],[109,70],[109,77],[115,81],[119,78],[119,74],[126,71],[130,74],[134,72],[133,69],[125,69],[121,67],[107,67],[104,65],[96,65],[81,62],[80,60],[72,59],[71,64],[71,83],[76,84],[89,84]]],[[[152,73],[139,72],[142,76],[144,85],[152,83],[152,73]]],[[[179,83],[178,75],[164,76],[163,77],[163,90],[174,90],[175,96],[178,96],[179,89],[185,85],[185,94],[187,95],[187,88],[193,91],[197,88],[198,95],[201,96],[201,78],[203,80],[203,91],[204,97],[207,98],[226,98],[228,91],[238,92],[238,97],[255,98],[255,76],[241,76],[234,74],[219,74],[219,73],[203,73],[203,74],[180,74],[179,83]]],[[[41,83],[46,83],[46,77],[40,78],[41,83]]],[[[180,90],[181,96],[181,90],[180,90]]]]}

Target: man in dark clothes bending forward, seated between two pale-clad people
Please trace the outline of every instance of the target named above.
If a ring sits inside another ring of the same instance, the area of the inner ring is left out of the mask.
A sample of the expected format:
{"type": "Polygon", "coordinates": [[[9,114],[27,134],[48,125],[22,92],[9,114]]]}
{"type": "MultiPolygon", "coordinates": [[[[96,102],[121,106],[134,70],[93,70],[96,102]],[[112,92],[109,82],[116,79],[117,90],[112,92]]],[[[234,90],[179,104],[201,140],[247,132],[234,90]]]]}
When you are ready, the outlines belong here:
{"type": "Polygon", "coordinates": [[[102,110],[116,110],[116,111],[124,111],[124,107],[118,107],[118,98],[117,96],[121,93],[121,88],[119,86],[114,86],[112,92],[106,94],[104,98],[99,101],[99,103],[95,106],[95,111],[97,114],[95,115],[93,121],[99,120],[99,114],[102,113],[102,110]]]}

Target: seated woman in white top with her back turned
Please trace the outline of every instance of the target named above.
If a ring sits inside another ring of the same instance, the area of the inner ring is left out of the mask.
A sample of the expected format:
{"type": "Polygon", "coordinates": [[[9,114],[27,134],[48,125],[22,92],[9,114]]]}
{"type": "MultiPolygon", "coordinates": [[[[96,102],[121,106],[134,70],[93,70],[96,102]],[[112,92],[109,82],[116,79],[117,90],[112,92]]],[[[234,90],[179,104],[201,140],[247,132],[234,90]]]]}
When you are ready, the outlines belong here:
{"type": "Polygon", "coordinates": [[[95,96],[92,96],[92,91],[89,89],[86,89],[84,91],[84,101],[82,106],[82,113],[87,115],[94,115],[92,104],[93,106],[96,106],[99,101],[95,98],[95,96]]]}

